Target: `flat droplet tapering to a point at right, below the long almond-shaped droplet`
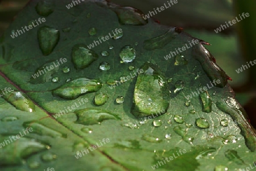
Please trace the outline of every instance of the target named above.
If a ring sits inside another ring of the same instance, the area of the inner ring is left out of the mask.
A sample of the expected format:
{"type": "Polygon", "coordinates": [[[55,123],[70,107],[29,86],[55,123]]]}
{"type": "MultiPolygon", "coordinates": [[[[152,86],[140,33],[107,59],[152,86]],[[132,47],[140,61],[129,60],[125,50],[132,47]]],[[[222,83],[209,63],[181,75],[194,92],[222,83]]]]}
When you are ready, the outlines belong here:
{"type": "Polygon", "coordinates": [[[104,120],[114,119],[119,120],[119,116],[112,114],[107,111],[97,110],[97,109],[82,109],[75,111],[77,115],[76,123],[90,125],[90,124],[100,124],[104,120]]]}

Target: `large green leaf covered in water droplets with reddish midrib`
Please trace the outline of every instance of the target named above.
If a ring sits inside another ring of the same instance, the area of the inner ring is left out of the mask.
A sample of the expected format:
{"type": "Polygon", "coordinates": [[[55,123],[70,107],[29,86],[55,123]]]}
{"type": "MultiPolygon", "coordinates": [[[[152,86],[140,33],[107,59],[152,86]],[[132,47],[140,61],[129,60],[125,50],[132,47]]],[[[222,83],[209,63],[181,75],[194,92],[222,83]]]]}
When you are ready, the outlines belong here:
{"type": "Polygon", "coordinates": [[[255,130],[208,43],[133,8],[47,2],[31,1],[0,41],[1,170],[253,166],[255,130]]]}

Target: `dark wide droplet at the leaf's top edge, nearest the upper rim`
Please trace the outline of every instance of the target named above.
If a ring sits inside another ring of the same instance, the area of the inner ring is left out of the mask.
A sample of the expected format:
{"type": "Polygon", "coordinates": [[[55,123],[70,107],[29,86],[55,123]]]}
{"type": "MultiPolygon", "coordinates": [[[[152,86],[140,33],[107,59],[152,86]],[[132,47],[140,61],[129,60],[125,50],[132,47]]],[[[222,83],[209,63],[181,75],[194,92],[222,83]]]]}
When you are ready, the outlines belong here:
{"type": "Polygon", "coordinates": [[[148,22],[142,17],[143,12],[133,7],[113,7],[112,10],[117,14],[118,21],[122,25],[143,26],[148,22]]]}

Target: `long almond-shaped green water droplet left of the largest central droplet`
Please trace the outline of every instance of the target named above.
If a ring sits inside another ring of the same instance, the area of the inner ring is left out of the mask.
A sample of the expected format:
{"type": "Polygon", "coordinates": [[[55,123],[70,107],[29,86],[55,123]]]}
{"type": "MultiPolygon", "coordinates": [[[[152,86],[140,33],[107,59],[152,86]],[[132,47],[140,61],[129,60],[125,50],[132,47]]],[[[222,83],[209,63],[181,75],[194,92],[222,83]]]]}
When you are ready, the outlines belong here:
{"type": "Polygon", "coordinates": [[[90,80],[88,78],[78,78],[76,80],[66,82],[63,86],[53,90],[52,94],[64,99],[76,99],[82,94],[98,91],[101,87],[101,81],[90,80]]]}

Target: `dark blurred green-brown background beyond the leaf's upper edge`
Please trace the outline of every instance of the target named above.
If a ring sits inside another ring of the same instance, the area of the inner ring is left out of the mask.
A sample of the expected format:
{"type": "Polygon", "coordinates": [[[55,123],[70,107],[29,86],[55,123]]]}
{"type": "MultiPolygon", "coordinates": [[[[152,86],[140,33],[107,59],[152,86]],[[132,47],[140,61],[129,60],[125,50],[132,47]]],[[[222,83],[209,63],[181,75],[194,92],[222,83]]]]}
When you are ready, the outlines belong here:
{"type": "MultiPolygon", "coordinates": [[[[29,0],[0,0],[0,36],[11,20],[29,0]]],[[[46,0],[49,1],[49,0],[46,0]]],[[[217,64],[233,79],[229,84],[236,98],[247,111],[256,128],[256,65],[237,73],[242,64],[256,59],[256,1],[255,0],[177,0],[174,6],[158,12],[153,18],[167,26],[183,27],[193,37],[212,44],[207,46],[217,64]],[[242,12],[249,17],[216,34],[214,30],[242,12]]],[[[71,1],[72,2],[72,1],[71,1]]],[[[122,6],[132,6],[144,14],[167,4],[166,0],[112,0],[122,6]]]]}

